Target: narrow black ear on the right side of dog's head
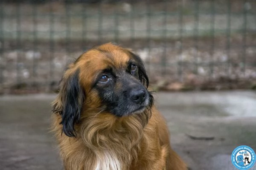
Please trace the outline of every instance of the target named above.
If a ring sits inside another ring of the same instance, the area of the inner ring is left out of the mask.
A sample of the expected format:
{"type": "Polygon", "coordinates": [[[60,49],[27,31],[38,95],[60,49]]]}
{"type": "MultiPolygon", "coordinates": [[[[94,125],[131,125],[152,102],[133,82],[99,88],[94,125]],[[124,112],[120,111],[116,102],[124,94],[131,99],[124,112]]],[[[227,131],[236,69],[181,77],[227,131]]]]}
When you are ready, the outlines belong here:
{"type": "Polygon", "coordinates": [[[138,69],[139,69],[139,79],[145,85],[146,88],[148,88],[148,75],[145,69],[145,65],[143,60],[135,53],[133,53],[130,49],[128,49],[129,54],[137,61],[138,63],[138,69]]]}

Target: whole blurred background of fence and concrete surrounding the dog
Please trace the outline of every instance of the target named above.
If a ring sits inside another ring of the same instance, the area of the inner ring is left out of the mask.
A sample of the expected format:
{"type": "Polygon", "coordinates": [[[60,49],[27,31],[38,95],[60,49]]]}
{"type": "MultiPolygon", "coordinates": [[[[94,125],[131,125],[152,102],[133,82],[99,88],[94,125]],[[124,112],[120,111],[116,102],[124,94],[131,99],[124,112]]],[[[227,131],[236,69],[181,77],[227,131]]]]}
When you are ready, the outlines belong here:
{"type": "Polygon", "coordinates": [[[67,64],[106,42],[144,60],[190,170],[256,151],[256,0],[0,0],[1,170],[63,169],[50,103],[67,64]]]}

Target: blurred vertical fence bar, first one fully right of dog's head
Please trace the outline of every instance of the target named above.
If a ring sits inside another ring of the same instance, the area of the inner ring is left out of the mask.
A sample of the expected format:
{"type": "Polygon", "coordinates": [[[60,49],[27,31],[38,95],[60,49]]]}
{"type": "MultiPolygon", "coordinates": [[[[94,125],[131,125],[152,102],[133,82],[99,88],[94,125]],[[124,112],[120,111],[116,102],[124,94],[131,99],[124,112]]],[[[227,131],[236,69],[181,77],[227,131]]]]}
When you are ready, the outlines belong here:
{"type": "Polygon", "coordinates": [[[161,62],[161,74],[166,74],[166,56],[167,56],[167,0],[163,5],[163,55],[162,55],[162,62],[161,62]]]}

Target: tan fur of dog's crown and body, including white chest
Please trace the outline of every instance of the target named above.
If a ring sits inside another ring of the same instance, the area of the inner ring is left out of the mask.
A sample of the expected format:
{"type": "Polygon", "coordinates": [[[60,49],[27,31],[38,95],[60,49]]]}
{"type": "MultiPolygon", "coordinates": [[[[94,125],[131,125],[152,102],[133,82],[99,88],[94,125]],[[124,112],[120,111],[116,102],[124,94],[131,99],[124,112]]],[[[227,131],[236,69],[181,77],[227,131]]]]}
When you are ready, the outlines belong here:
{"type": "Polygon", "coordinates": [[[62,133],[61,116],[52,115],[52,130],[65,170],[186,170],[186,165],[171,149],[166,123],[154,106],[151,112],[145,110],[124,117],[99,109],[101,100],[91,88],[95,75],[108,65],[123,68],[130,59],[127,49],[110,43],[99,49],[108,51],[114,60],[102,57],[108,54],[94,49],[81,55],[65,71],[62,88],[53,102],[57,108],[63,107],[65,79],[79,68],[79,81],[86,98],[81,103],[76,138],[62,133]]]}

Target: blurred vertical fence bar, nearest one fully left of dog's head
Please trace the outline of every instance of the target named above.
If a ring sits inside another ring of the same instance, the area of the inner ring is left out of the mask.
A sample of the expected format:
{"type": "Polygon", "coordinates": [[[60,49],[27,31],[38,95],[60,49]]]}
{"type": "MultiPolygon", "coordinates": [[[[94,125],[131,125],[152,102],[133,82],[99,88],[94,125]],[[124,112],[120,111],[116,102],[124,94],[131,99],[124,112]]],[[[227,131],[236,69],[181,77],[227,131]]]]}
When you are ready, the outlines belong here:
{"type": "Polygon", "coordinates": [[[50,90],[52,90],[52,80],[54,79],[54,70],[55,70],[55,63],[54,63],[54,13],[51,3],[49,3],[49,85],[50,90]]]}

